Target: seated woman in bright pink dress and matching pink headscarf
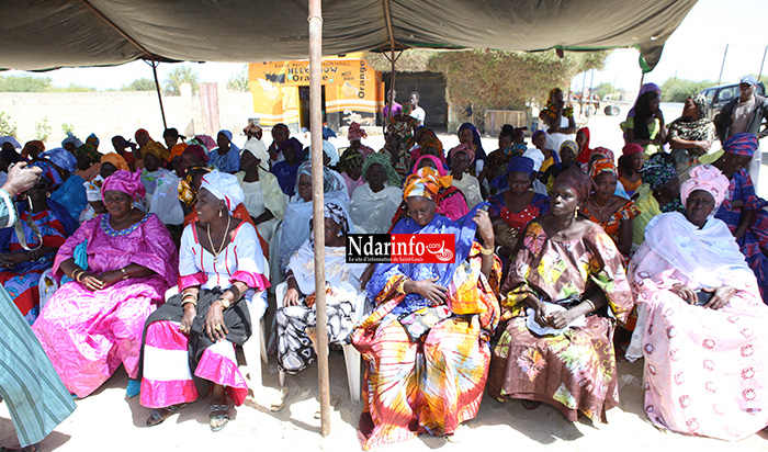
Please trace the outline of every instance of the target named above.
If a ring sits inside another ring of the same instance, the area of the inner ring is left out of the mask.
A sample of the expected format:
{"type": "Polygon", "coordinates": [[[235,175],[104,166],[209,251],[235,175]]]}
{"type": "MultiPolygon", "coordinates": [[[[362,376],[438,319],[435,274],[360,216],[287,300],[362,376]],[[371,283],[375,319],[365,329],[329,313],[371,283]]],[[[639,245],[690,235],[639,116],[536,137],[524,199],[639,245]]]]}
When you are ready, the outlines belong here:
{"type": "Polygon", "coordinates": [[[138,173],[116,171],[101,190],[108,213],[83,223],[54,260],[64,284],[33,329],[77,397],[101,386],[123,364],[128,396],[138,394],[144,323],[177,283],[179,257],[165,225],[133,203],[144,196],[138,173]]]}

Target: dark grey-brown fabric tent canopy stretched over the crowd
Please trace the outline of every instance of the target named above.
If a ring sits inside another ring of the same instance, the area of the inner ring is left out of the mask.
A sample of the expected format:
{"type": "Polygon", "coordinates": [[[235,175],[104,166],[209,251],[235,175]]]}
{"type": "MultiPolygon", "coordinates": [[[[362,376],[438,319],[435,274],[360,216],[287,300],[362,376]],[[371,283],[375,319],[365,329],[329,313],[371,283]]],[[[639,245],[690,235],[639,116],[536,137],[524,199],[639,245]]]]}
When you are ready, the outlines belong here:
{"type": "MultiPolygon", "coordinates": [[[[428,47],[637,47],[648,68],[696,0],[323,1],[323,54],[428,47]]],[[[121,65],[139,58],[307,57],[305,0],[9,0],[2,69],[121,65]]]]}

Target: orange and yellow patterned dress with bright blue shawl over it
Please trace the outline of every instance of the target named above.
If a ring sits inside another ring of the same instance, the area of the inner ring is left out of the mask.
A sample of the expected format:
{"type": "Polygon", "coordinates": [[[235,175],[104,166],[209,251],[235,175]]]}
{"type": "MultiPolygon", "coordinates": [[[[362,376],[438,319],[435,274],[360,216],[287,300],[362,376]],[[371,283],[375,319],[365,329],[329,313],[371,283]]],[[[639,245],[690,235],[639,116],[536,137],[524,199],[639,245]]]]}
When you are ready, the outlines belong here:
{"type": "Polygon", "coordinates": [[[422,432],[453,434],[477,415],[490,360],[488,341],[498,321],[500,262],[495,261],[486,280],[481,246],[474,242],[475,212],[458,222],[436,215],[425,227],[410,218],[398,222],[395,234],[454,235],[455,263],[377,264],[368,283],[377,307],[352,332],[365,361],[359,425],[365,450],[422,432]],[[444,305],[397,292],[404,279],[432,276],[449,289],[444,305]]]}

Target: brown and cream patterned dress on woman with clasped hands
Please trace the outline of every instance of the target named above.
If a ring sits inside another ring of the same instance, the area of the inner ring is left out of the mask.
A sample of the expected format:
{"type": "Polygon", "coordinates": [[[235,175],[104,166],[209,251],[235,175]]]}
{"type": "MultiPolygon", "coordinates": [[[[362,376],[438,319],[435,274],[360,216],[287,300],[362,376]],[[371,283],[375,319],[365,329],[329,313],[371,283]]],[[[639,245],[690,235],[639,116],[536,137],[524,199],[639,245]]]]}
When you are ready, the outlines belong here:
{"type": "Polygon", "coordinates": [[[556,241],[538,221],[528,225],[521,247],[501,287],[501,305],[510,320],[494,349],[488,376],[492,397],[544,402],[572,421],[584,413],[606,421],[619,404],[613,354],[614,319],[623,324],[633,300],[613,241],[598,225],[583,237],[556,241]],[[587,317],[587,327],[560,336],[534,336],[526,327],[529,296],[557,303],[597,289],[608,312],[587,317]]]}

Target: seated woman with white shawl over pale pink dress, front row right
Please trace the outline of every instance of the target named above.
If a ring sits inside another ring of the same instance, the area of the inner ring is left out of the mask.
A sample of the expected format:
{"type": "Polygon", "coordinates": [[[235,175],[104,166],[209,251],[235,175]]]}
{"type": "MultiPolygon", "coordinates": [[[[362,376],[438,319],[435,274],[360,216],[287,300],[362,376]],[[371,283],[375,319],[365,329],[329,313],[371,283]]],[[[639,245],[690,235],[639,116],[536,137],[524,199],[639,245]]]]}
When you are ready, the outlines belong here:
{"type": "Polygon", "coordinates": [[[735,441],[766,427],[768,306],[725,223],[729,180],[703,165],[680,190],[686,213],[654,217],[630,263],[646,309],[645,413],[658,427],[735,441]]]}

